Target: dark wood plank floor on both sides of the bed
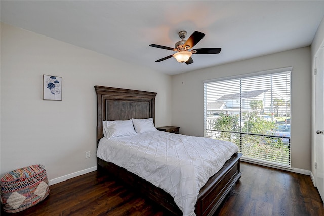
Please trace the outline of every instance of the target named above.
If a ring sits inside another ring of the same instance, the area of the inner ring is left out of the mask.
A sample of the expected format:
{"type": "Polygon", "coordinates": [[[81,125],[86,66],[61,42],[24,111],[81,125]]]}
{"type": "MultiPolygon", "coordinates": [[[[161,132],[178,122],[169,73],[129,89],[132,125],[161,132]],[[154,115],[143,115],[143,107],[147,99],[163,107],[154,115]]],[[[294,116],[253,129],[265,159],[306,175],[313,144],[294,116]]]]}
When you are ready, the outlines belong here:
{"type": "MultiPolygon", "coordinates": [[[[242,177],[215,215],[324,215],[309,176],[241,162],[242,177]]],[[[50,186],[41,203],[1,215],[170,215],[102,172],[50,186]]]]}

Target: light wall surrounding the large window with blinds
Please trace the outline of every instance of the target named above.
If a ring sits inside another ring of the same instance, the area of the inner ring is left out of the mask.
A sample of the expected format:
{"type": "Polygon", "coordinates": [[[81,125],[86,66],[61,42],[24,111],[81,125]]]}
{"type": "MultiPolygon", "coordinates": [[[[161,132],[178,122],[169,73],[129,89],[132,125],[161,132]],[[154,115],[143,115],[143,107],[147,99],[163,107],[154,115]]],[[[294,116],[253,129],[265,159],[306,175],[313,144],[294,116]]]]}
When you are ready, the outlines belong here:
{"type": "Polygon", "coordinates": [[[204,136],[204,80],[292,66],[292,167],[310,170],[310,55],[304,47],[172,76],[172,125],[182,134],[204,136]]]}

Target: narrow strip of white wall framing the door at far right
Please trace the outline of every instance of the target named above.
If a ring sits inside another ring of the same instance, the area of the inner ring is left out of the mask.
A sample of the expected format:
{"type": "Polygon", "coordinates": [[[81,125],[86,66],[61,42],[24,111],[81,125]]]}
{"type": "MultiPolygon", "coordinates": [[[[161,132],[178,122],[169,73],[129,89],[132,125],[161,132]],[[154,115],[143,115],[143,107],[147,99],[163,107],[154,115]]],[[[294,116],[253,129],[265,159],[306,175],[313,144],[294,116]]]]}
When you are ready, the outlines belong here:
{"type": "Polygon", "coordinates": [[[312,61],[312,70],[311,70],[311,78],[312,78],[312,129],[311,129],[311,138],[312,138],[312,152],[311,152],[311,177],[312,180],[315,184],[315,174],[316,174],[316,169],[315,169],[315,162],[316,162],[316,146],[315,146],[315,131],[318,130],[315,127],[315,75],[314,75],[314,69],[315,69],[315,55],[319,48],[324,45],[324,18],[322,19],[321,23],[319,24],[319,27],[316,31],[314,40],[311,45],[311,61],[312,61]]]}

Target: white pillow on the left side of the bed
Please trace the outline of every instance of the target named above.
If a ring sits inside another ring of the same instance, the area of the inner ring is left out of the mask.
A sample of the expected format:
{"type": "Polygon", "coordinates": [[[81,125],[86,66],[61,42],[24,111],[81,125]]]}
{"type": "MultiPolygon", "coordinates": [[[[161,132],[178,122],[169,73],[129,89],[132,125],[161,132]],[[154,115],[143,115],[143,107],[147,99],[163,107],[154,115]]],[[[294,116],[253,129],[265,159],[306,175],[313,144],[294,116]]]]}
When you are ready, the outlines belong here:
{"type": "Polygon", "coordinates": [[[117,138],[121,136],[131,136],[137,133],[134,130],[133,122],[129,120],[103,121],[103,135],[106,138],[117,138]]]}

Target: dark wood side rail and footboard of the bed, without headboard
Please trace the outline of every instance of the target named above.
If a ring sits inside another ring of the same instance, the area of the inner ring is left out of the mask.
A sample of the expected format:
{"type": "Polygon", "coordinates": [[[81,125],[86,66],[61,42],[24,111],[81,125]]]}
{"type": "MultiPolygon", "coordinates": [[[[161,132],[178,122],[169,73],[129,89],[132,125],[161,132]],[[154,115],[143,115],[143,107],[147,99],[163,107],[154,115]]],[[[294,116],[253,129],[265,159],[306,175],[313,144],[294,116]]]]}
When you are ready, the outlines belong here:
{"type": "MultiPolygon", "coordinates": [[[[201,188],[195,205],[196,215],[212,215],[217,210],[233,185],[241,176],[239,166],[241,156],[242,154],[240,153],[232,155],[221,170],[213,175],[205,186],[201,188]]],[[[127,184],[132,189],[136,189],[139,193],[163,206],[173,214],[182,215],[182,211],[174,202],[173,197],[163,189],[154,186],[124,168],[99,158],[98,166],[100,166],[98,169],[101,167],[104,168],[109,173],[119,178],[123,183],[127,184]]]]}

